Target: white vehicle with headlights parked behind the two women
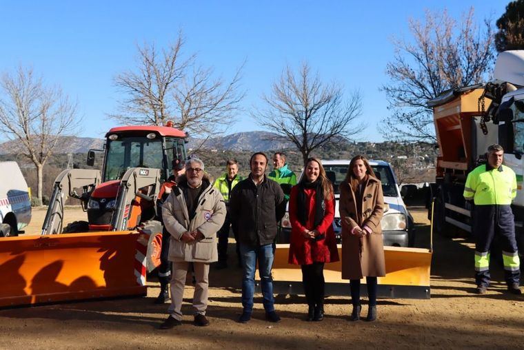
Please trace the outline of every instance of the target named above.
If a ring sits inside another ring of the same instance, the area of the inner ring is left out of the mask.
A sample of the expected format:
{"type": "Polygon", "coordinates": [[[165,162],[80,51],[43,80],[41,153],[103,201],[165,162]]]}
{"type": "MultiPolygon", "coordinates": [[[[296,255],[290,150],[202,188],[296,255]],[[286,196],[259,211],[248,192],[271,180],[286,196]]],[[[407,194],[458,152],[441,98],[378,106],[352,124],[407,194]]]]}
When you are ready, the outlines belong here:
{"type": "MultiPolygon", "coordinates": [[[[385,161],[369,161],[377,178],[382,183],[382,192],[386,204],[385,212],[381,220],[382,234],[384,245],[396,247],[413,247],[414,246],[414,222],[410,212],[404,204],[401,197],[399,185],[390,163],[385,161]]],[[[340,234],[342,229],[341,218],[339,214],[339,185],[347,174],[347,167],[350,161],[322,161],[325,174],[333,184],[335,192],[335,218],[333,228],[337,242],[340,243],[340,234]]],[[[302,174],[300,178],[302,177],[302,174]]],[[[281,234],[279,243],[289,239],[291,225],[289,215],[286,212],[281,220],[281,234]]]]}

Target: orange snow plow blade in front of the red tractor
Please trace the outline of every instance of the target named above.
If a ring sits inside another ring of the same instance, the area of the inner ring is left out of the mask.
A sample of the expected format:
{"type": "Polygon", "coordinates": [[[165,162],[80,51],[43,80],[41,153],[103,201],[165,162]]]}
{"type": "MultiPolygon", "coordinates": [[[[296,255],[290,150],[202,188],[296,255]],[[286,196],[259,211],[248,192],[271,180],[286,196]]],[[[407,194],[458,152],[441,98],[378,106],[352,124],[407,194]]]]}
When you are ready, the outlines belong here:
{"type": "Polygon", "coordinates": [[[145,296],[147,239],[133,231],[2,238],[0,307],[145,296]]]}

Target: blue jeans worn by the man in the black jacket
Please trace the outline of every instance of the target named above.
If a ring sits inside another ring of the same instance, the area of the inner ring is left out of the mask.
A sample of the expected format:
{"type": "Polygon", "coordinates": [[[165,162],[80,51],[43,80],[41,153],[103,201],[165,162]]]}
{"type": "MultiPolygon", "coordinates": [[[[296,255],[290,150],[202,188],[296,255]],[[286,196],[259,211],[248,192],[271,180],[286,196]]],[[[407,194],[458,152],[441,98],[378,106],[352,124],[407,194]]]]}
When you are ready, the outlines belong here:
{"type": "Polygon", "coordinates": [[[259,276],[261,280],[263,305],[265,312],[274,311],[273,298],[273,278],[271,276],[271,267],[273,265],[274,251],[273,245],[260,245],[250,247],[240,245],[240,254],[242,256],[242,306],[244,312],[253,311],[253,294],[254,294],[254,271],[256,261],[259,262],[259,276]]]}

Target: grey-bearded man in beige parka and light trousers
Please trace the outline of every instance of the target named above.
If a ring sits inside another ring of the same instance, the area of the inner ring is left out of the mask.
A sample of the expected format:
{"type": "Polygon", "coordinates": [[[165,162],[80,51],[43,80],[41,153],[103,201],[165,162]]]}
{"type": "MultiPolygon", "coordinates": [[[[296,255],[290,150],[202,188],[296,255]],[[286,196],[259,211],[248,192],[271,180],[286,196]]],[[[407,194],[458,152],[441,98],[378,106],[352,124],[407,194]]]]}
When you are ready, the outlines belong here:
{"type": "Polygon", "coordinates": [[[212,187],[204,175],[204,164],[198,158],[185,163],[185,175],[162,207],[165,229],[171,234],[169,260],[173,264],[170,282],[170,316],[160,326],[170,329],[181,325],[182,299],[185,276],[190,263],[194,266],[196,285],[193,307],[194,325],[207,326],[205,309],[208,307],[208,274],[210,263],[218,260],[216,231],[225,219],[225,204],[219,190],[212,187]]]}

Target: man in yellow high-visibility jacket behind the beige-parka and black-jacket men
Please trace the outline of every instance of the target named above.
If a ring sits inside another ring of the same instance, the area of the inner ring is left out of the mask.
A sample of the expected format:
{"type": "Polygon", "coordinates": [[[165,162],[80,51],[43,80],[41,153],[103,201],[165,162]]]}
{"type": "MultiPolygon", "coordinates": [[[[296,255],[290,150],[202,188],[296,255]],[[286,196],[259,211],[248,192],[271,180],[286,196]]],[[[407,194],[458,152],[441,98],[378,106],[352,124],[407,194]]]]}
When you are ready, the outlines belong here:
{"type": "MultiPolygon", "coordinates": [[[[238,174],[239,162],[237,162],[236,159],[230,159],[225,164],[225,168],[226,172],[217,178],[213,184],[213,186],[219,189],[220,193],[222,194],[225,202],[225,208],[227,209],[224,225],[222,225],[222,228],[219,230],[219,261],[216,263],[217,269],[225,269],[228,267],[228,238],[231,226],[229,198],[233,187],[235,187],[239,181],[243,180],[242,176],[238,174]]],[[[233,230],[233,235],[234,239],[237,240],[235,230],[233,230]]],[[[239,266],[241,266],[240,247],[238,243],[236,243],[236,256],[239,260],[239,266]]]]}

